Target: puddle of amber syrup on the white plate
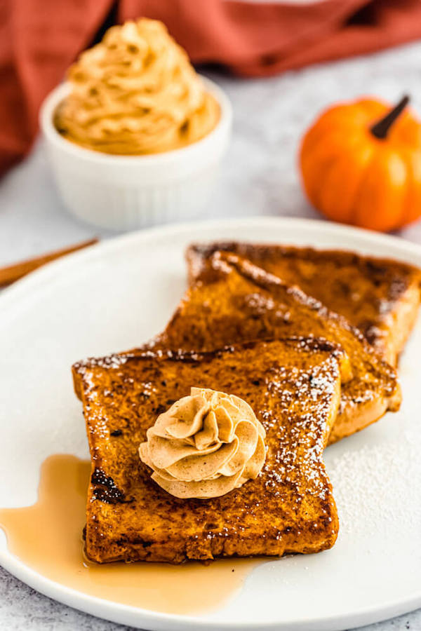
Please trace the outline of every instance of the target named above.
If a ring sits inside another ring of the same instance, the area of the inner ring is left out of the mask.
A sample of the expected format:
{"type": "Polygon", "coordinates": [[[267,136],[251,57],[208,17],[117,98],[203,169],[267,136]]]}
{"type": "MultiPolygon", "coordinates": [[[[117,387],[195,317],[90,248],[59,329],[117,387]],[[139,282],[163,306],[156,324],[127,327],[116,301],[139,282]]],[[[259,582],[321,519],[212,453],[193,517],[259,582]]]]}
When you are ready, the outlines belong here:
{"type": "Polygon", "coordinates": [[[49,456],[41,466],[38,501],[0,509],[8,549],[25,565],[61,585],[98,598],[165,613],[198,613],[232,597],[262,559],[96,564],[83,555],[86,491],[91,463],[49,456]]]}

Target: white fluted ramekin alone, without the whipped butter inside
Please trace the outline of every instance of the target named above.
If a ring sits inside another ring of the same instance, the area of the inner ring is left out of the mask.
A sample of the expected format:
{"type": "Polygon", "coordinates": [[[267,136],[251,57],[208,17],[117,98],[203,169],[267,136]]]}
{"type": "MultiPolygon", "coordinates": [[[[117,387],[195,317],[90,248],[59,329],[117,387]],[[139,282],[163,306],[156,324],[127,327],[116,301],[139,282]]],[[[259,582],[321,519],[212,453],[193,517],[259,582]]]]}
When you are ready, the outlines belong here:
{"type": "Polygon", "coordinates": [[[209,79],[220,121],[188,147],[150,156],[114,156],[79,147],[53,125],[58,104],[69,93],[63,83],[41,107],[41,130],[65,205],[86,222],[130,230],[199,215],[206,205],[232,127],[228,97],[209,79]]]}

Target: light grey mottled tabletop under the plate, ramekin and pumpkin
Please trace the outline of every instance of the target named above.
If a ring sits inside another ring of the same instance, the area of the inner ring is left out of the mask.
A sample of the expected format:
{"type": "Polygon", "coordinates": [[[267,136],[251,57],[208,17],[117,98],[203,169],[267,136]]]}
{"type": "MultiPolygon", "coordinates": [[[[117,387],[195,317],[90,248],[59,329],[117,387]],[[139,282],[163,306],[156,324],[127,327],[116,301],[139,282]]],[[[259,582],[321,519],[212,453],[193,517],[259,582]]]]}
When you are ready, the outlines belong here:
{"type": "MultiPolygon", "coordinates": [[[[296,155],[302,131],[330,102],[362,94],[394,101],[408,92],[421,112],[420,64],[421,43],[415,43],[273,79],[242,81],[214,75],[234,105],[234,137],[213,201],[203,218],[318,217],[303,198],[298,182],[296,155]]],[[[39,142],[27,161],[0,184],[0,264],[93,235],[110,236],[67,214],[39,142]]],[[[421,222],[403,231],[402,236],[421,243],[421,222]]],[[[23,628],[111,631],[127,627],[53,602],[0,569],[0,629],[23,628]]],[[[421,610],[363,628],[421,630],[421,610]]]]}

